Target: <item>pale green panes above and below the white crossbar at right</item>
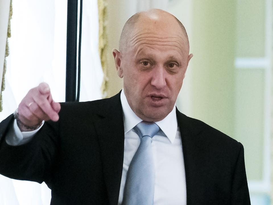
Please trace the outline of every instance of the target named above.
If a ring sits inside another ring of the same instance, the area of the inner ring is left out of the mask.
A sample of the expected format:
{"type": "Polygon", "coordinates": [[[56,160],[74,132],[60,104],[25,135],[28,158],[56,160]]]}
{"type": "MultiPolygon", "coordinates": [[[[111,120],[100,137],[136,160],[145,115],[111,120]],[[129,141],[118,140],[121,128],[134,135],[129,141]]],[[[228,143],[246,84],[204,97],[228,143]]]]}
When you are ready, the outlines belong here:
{"type": "MultiPolygon", "coordinates": [[[[237,58],[265,57],[265,17],[265,0],[237,1],[237,58]]],[[[250,180],[263,179],[264,91],[264,67],[236,70],[235,138],[245,147],[245,164],[250,180]]]]}

